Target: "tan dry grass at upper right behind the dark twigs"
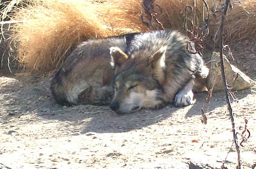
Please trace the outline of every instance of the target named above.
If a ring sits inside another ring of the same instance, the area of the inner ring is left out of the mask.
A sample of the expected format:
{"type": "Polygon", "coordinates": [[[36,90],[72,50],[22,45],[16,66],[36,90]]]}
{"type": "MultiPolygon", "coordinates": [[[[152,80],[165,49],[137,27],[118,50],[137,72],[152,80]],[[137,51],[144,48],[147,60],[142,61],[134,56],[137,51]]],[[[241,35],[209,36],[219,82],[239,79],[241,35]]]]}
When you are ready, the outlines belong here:
{"type": "MultiPolygon", "coordinates": [[[[184,31],[184,18],[185,18],[185,5],[189,4],[193,7],[193,2],[196,2],[198,7],[198,24],[202,26],[203,20],[206,17],[206,9],[204,8],[202,1],[176,1],[176,0],[159,0],[158,4],[163,7],[163,15],[160,17],[164,28],[180,29],[184,31]],[[203,17],[204,14],[204,17],[203,17]]],[[[208,0],[209,7],[216,7],[219,1],[208,0]]],[[[226,25],[225,25],[225,37],[224,41],[228,44],[238,43],[239,41],[256,37],[256,1],[246,0],[239,2],[233,2],[233,9],[229,8],[226,25]],[[248,14],[249,13],[249,14],[248,14]]],[[[192,12],[190,19],[193,19],[192,12]]],[[[212,45],[214,42],[214,35],[217,32],[220,20],[220,13],[217,19],[211,17],[210,23],[210,35],[205,39],[204,43],[212,45]]],[[[190,26],[191,30],[191,26],[190,26]]]]}

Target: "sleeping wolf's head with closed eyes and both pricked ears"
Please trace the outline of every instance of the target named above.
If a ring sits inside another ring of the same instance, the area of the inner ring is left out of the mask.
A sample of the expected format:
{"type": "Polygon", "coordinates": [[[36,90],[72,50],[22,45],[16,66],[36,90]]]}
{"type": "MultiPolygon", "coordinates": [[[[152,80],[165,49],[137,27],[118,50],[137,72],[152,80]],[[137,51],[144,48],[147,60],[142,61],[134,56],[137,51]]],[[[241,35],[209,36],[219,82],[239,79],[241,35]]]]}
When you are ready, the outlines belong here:
{"type": "Polygon", "coordinates": [[[146,56],[134,52],[130,57],[118,47],[111,47],[111,65],[115,70],[114,98],[110,108],[117,114],[140,108],[160,108],[163,99],[166,47],[146,56]]]}

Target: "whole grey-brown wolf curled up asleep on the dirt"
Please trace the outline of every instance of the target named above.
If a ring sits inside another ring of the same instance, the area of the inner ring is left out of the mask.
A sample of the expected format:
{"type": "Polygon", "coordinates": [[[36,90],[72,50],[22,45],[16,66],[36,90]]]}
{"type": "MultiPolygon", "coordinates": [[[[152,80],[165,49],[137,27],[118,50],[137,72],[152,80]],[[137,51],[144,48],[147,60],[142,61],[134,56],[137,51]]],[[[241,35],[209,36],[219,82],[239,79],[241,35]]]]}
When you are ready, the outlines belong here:
{"type": "Polygon", "coordinates": [[[192,104],[192,89],[202,90],[208,70],[186,44],[171,30],[86,41],[55,75],[52,94],[66,105],[111,102],[117,114],[192,104]]]}

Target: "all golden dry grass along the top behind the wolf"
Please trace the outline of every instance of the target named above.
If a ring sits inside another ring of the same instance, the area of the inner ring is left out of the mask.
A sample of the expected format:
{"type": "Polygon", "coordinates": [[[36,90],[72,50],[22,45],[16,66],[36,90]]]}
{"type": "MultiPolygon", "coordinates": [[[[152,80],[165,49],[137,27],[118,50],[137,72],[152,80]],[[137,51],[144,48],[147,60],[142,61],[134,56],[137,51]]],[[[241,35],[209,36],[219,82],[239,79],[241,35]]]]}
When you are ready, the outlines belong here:
{"type": "MultiPolygon", "coordinates": [[[[31,0],[29,5],[16,8],[12,20],[16,23],[13,40],[17,42],[17,59],[28,71],[41,73],[61,65],[64,58],[87,38],[107,37],[149,30],[139,19],[142,0],[31,0]]],[[[185,5],[194,0],[157,0],[163,8],[159,17],[164,28],[184,30],[185,5]]],[[[208,5],[213,0],[208,0],[208,5]]],[[[217,1],[219,2],[219,1],[217,1]]],[[[229,11],[225,40],[237,42],[256,36],[256,2],[246,0],[243,8],[235,5],[229,11]],[[246,13],[246,11],[252,14],[246,13]]],[[[196,0],[198,22],[202,23],[202,1],[196,0]]],[[[193,13],[190,16],[193,18],[193,13]]],[[[210,36],[217,30],[218,20],[210,25],[210,36]]],[[[155,29],[155,28],[151,28],[155,29]]],[[[212,40],[207,40],[207,43],[212,40]]]]}

